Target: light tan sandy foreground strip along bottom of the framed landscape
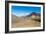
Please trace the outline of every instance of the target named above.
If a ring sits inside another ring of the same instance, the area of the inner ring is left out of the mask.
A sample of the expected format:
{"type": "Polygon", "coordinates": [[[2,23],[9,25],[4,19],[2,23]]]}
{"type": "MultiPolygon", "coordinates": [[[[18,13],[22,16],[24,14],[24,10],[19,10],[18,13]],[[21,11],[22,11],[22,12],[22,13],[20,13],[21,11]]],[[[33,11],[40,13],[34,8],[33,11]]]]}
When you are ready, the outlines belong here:
{"type": "Polygon", "coordinates": [[[20,28],[20,27],[40,27],[40,22],[34,21],[31,19],[20,19],[19,22],[12,23],[12,28],[20,28]]]}

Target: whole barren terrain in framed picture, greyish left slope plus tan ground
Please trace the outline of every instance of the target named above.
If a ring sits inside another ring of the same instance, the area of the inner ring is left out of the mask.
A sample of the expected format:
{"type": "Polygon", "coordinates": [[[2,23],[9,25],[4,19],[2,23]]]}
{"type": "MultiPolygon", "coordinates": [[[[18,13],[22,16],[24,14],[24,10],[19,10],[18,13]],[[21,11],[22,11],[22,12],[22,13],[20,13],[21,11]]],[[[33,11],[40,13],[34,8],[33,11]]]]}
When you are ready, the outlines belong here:
{"type": "Polygon", "coordinates": [[[20,27],[40,27],[40,23],[37,20],[33,20],[31,17],[16,17],[12,15],[12,28],[20,27]]]}

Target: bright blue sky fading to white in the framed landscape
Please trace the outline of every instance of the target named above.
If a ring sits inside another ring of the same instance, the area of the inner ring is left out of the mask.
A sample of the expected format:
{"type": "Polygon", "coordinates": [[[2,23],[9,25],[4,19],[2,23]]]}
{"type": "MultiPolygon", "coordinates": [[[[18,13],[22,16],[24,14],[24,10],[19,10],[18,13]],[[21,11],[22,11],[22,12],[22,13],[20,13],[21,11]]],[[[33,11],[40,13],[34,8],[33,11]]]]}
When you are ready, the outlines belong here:
{"type": "Polygon", "coordinates": [[[40,13],[41,7],[32,6],[12,6],[12,14],[16,16],[26,16],[32,12],[40,13]]]}

